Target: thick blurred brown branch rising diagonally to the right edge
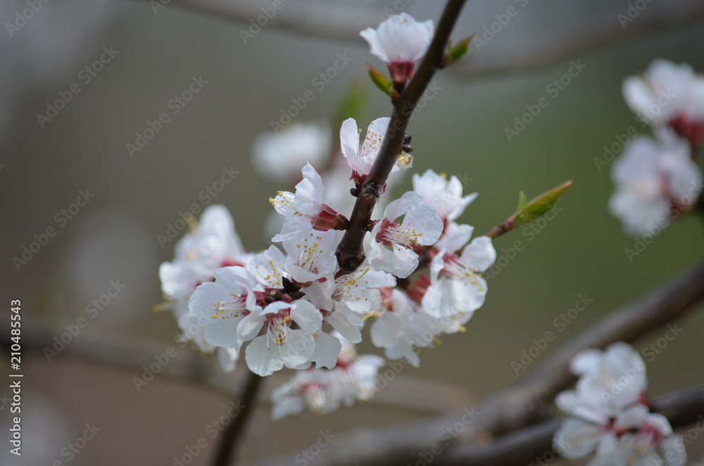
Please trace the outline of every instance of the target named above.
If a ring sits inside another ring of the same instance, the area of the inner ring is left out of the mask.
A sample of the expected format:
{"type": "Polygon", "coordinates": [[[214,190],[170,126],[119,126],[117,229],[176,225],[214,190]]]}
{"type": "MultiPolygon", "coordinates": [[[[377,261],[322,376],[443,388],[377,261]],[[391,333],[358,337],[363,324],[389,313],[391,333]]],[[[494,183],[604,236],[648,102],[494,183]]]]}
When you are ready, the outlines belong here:
{"type": "MultiPolygon", "coordinates": [[[[685,315],[703,298],[704,263],[700,263],[646,296],[615,310],[544,360],[527,377],[474,405],[472,409],[479,416],[466,426],[458,443],[497,436],[547,419],[555,394],[574,382],[569,363],[575,354],[587,348],[605,348],[615,341],[634,341],[685,315]]],[[[420,422],[360,430],[327,446],[315,461],[327,466],[405,466],[417,460],[419,452],[430,451],[439,435],[463,415],[459,411],[420,422]]],[[[290,460],[289,454],[257,464],[283,466],[290,460]]]]}

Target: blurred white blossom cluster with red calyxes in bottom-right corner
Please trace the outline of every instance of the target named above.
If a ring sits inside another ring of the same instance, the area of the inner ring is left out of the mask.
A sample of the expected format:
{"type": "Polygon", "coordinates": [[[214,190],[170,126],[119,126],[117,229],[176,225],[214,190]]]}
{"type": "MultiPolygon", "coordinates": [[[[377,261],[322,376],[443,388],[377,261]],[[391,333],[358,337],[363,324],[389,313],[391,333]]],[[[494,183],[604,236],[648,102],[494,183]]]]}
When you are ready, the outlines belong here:
{"type": "Polygon", "coordinates": [[[620,342],[605,351],[583,351],[570,369],[579,377],[575,389],[555,398],[572,416],[553,439],[562,457],[596,452],[591,466],[684,466],[684,443],[665,416],[650,413],[646,366],[631,346],[620,342]]]}

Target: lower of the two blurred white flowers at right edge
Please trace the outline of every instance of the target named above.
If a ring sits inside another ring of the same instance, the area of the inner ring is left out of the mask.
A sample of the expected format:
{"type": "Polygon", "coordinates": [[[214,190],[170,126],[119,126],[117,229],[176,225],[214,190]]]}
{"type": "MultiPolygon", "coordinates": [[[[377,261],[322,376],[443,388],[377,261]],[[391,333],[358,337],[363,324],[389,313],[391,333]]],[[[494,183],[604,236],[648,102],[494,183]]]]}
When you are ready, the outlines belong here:
{"type": "Polygon", "coordinates": [[[689,144],[668,130],[658,135],[630,141],[612,166],[616,190],[609,210],[628,234],[665,227],[672,209],[689,209],[701,191],[701,171],[691,160],[689,144]]]}

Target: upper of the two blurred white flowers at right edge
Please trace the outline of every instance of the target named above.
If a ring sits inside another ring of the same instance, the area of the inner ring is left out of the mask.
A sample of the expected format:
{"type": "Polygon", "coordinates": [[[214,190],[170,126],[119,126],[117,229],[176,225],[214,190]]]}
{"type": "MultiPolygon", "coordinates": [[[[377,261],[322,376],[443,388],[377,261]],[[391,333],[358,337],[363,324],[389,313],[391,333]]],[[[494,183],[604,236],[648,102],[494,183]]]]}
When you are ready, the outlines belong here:
{"type": "Polygon", "coordinates": [[[658,59],[623,82],[623,96],[639,120],[672,125],[690,141],[704,135],[704,77],[691,66],[658,59]]]}

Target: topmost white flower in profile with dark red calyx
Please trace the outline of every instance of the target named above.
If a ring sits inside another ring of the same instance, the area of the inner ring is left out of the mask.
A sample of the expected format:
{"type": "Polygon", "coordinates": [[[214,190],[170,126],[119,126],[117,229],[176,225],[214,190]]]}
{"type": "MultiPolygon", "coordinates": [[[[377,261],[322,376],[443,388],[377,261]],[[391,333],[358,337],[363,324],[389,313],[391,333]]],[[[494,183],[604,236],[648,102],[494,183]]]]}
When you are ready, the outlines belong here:
{"type": "Polygon", "coordinates": [[[389,16],[377,30],[371,27],[360,35],[372,54],[389,67],[391,79],[406,82],[413,76],[415,62],[425,55],[433,39],[433,21],[418,23],[408,13],[389,16]]]}

